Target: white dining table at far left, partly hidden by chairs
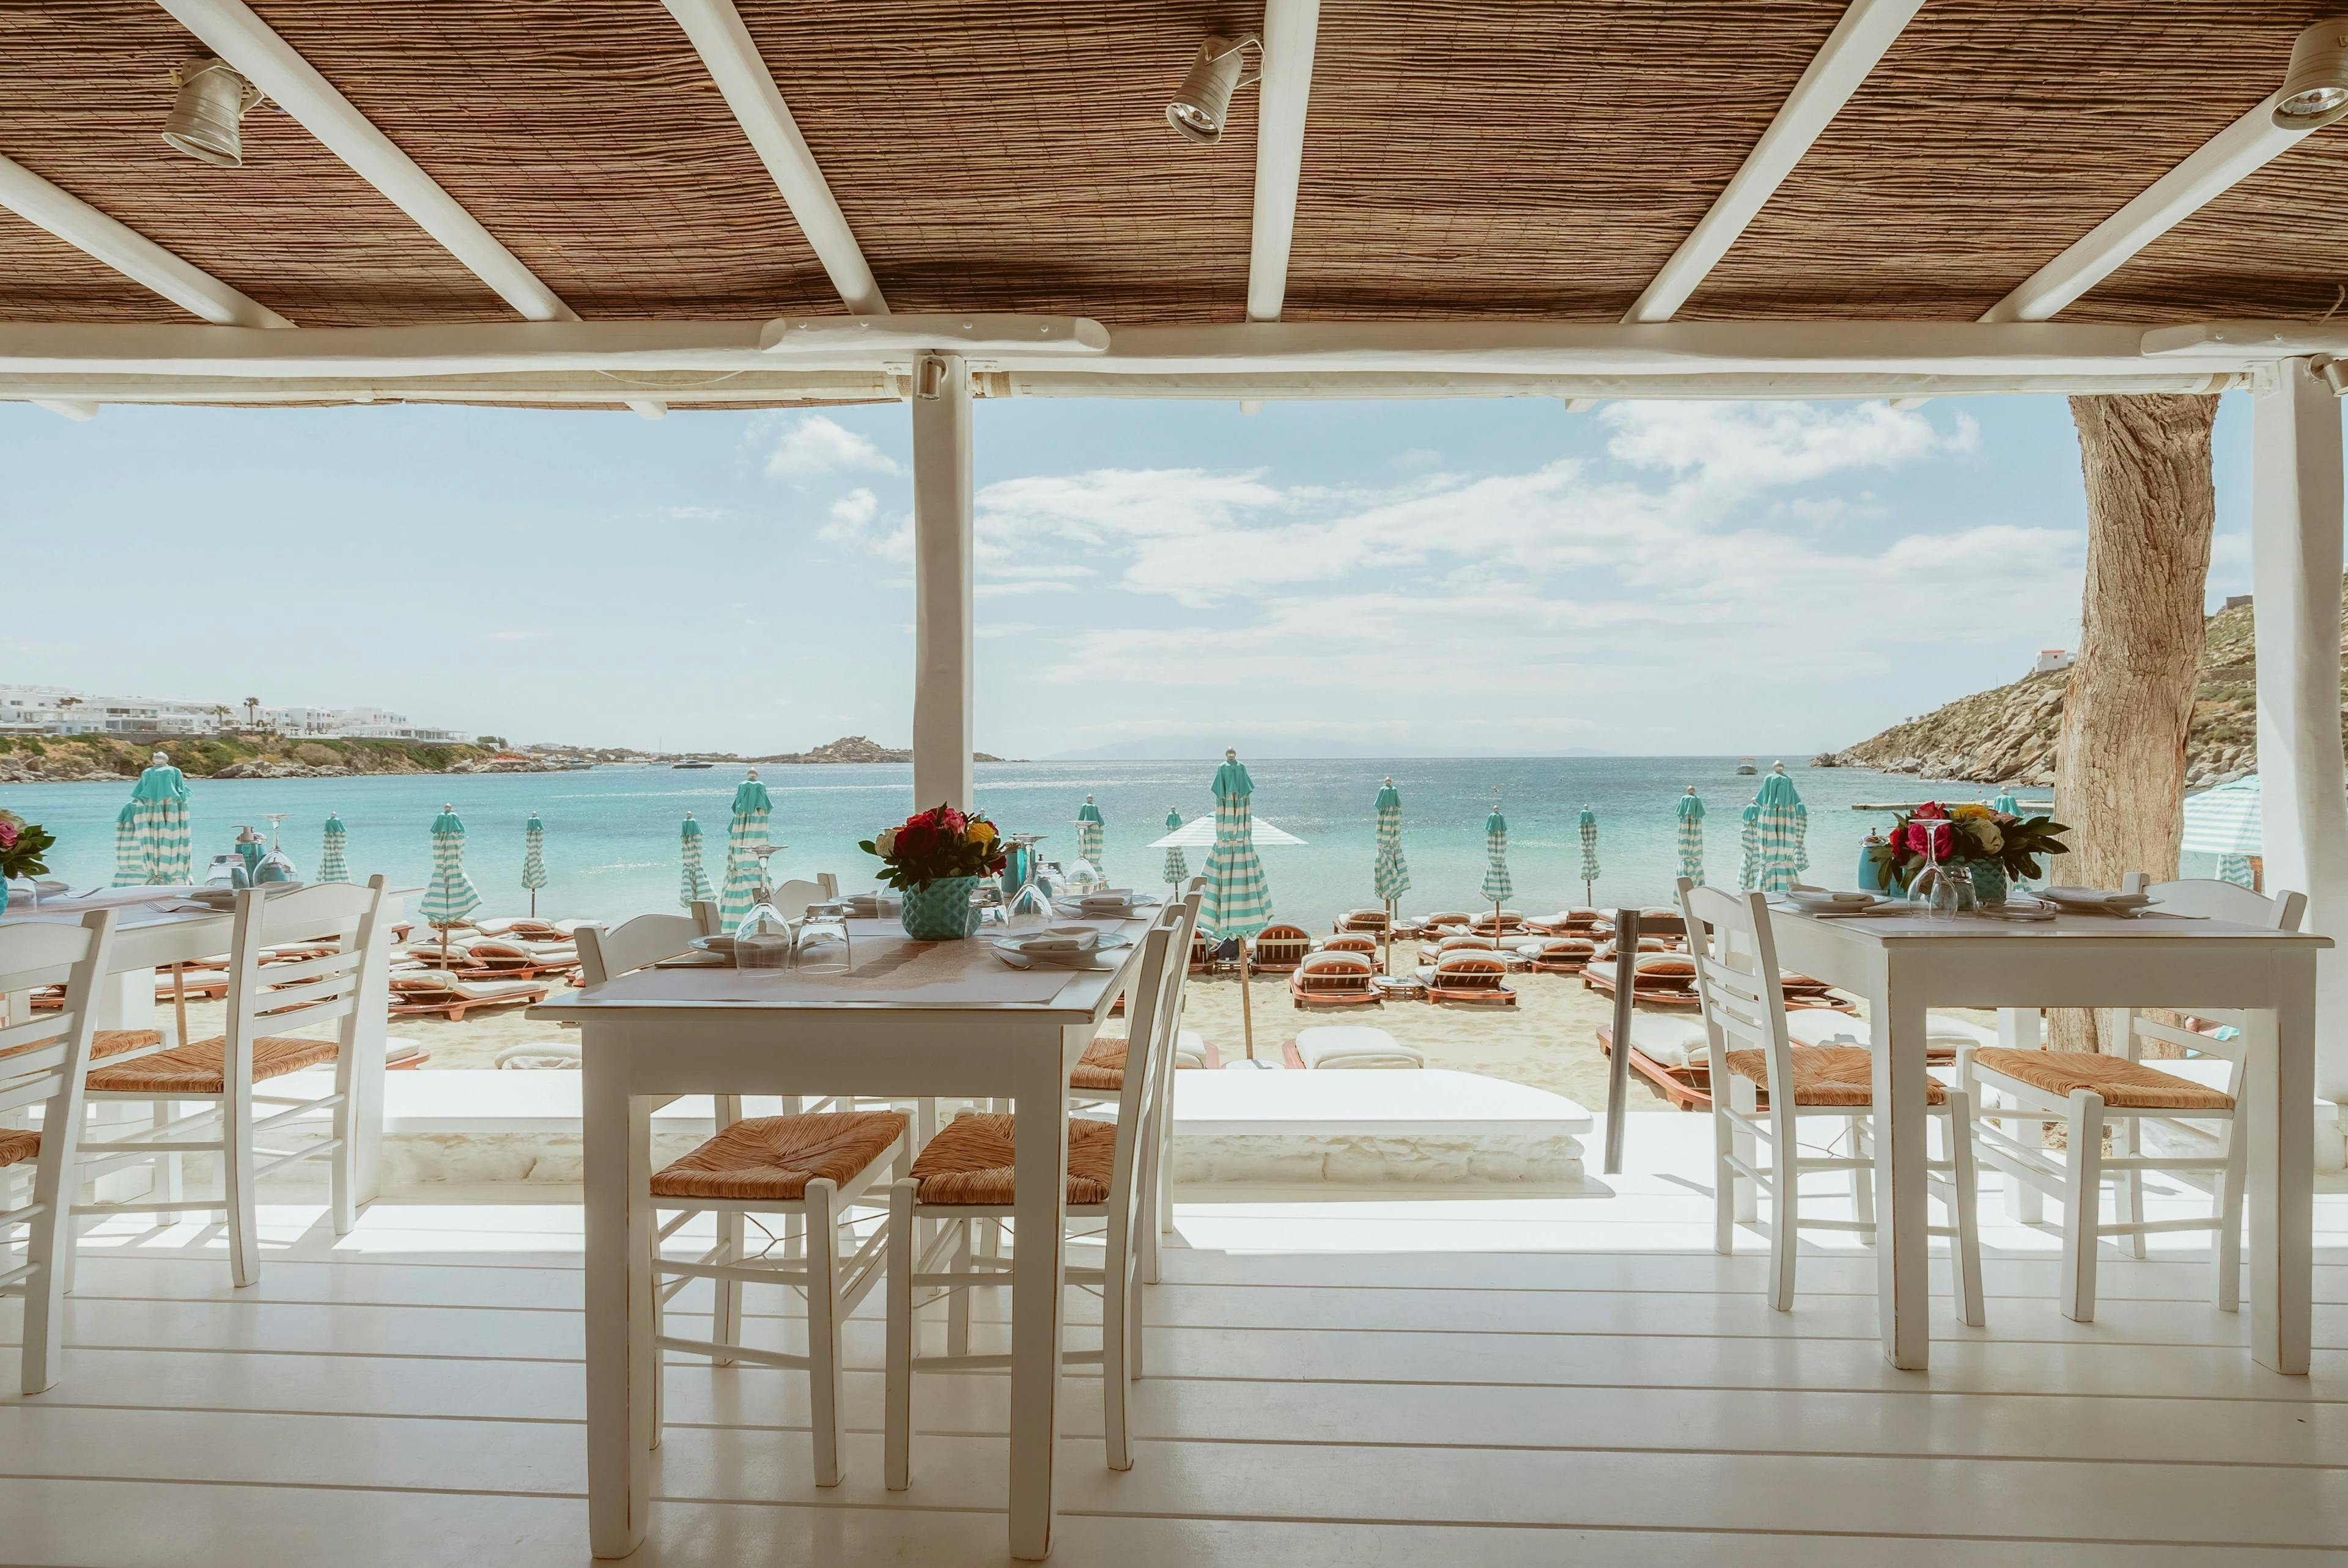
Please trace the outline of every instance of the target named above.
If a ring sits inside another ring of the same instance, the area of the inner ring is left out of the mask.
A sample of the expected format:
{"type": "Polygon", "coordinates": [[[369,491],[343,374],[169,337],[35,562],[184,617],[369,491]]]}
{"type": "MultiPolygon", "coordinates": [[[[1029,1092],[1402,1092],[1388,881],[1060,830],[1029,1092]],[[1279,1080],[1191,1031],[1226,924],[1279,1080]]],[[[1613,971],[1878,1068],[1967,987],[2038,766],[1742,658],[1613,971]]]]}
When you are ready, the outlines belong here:
{"type": "MultiPolygon", "coordinates": [[[[237,918],[225,908],[207,908],[185,897],[185,887],[113,887],[92,897],[61,897],[40,904],[9,904],[0,922],[52,920],[75,925],[94,908],[115,911],[115,948],[108,974],[124,988],[99,1005],[99,1028],[146,1028],[155,1012],[155,969],[216,958],[228,951],[237,918]]],[[[399,920],[399,904],[418,887],[392,887],[383,894],[380,930],[399,920]]],[[[350,1124],[352,1195],[371,1204],[383,1192],[383,1052],[390,1023],[390,965],[369,967],[371,979],[359,991],[357,1061],[352,1063],[350,1124]]],[[[185,1042],[181,1042],[185,1045],[185,1042]]]]}

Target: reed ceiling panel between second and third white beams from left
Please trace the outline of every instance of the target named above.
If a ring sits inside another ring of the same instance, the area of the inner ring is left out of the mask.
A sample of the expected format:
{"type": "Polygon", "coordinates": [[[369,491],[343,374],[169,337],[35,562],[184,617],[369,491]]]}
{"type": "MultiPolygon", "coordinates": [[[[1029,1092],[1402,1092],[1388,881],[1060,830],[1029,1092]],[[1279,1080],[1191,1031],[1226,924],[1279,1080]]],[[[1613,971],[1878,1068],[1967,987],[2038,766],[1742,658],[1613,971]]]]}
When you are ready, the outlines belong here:
{"type": "Polygon", "coordinates": [[[256,9],[582,317],[841,310],[709,68],[657,0],[256,9]]]}

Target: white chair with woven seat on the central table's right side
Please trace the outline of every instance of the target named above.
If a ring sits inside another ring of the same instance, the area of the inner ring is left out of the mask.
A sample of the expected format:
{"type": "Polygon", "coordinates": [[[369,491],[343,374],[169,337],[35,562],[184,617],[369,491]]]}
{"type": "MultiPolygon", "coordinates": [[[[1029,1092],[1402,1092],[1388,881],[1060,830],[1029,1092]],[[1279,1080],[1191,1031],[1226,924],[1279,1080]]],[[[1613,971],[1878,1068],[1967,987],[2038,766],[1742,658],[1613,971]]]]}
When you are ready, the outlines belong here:
{"type": "MultiPolygon", "coordinates": [[[[1183,925],[1183,906],[1167,906],[1151,925],[1141,972],[1127,993],[1132,1040],[1141,1056],[1127,1059],[1118,1091],[1118,1120],[1068,1120],[1068,1221],[1104,1225],[1101,1268],[1068,1268],[1068,1284],[1099,1286],[1101,1347],[1064,1350],[1061,1364],[1101,1368],[1101,1422],[1111,1469],[1134,1467],[1132,1383],[1141,1376],[1141,1261],[1143,1237],[1155,1232],[1148,1192],[1148,1145],[1160,1141],[1162,1096],[1172,1089],[1174,1026],[1181,972],[1169,962],[1183,925]],[[1139,1070],[1136,1070],[1139,1066],[1139,1070]]],[[[1057,1108],[1054,1108],[1057,1113],[1057,1108]]],[[[1003,1284],[1005,1263],[970,1256],[970,1225],[1012,1211],[1012,1145],[1017,1117],[956,1117],[890,1190],[888,1261],[888,1488],[911,1486],[913,1373],[1010,1368],[1005,1354],[970,1354],[967,1314],[949,1319],[946,1354],[916,1354],[916,1289],[944,1289],[965,1298],[974,1286],[1003,1284]],[[942,1221],[939,1235],[918,1249],[916,1225],[942,1221]],[[951,1253],[951,1263],[949,1263],[951,1253]]],[[[1059,1368],[1026,1376],[1059,1376],[1059,1368]]]]}

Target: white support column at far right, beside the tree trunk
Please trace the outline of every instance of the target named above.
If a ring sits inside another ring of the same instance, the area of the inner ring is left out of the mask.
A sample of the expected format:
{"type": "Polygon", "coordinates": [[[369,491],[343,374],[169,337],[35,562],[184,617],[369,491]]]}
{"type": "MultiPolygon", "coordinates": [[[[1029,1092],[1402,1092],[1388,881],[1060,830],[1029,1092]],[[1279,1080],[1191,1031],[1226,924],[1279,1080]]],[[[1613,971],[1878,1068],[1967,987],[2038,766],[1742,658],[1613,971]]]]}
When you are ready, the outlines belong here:
{"type": "MultiPolygon", "coordinates": [[[[2341,404],[2306,359],[2285,359],[2261,376],[2252,408],[2249,566],[2266,885],[2306,890],[2306,930],[2348,941],[2341,404]]],[[[2317,960],[2315,1091],[2348,1096],[2348,951],[2317,960]]]]}

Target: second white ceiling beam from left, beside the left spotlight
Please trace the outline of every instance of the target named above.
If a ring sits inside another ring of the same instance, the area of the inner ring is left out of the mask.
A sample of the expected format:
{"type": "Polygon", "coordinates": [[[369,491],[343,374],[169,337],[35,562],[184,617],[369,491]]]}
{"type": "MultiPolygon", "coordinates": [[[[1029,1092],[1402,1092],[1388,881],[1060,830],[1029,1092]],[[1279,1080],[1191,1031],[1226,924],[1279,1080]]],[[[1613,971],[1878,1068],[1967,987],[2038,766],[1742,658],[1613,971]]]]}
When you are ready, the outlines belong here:
{"type": "MultiPolygon", "coordinates": [[[[244,0],[157,0],[214,54],[294,115],[369,185],[416,218],[451,256],[531,322],[578,322],[547,284],[456,204],[416,160],[392,146],[310,61],[277,38],[244,0]]],[[[254,178],[261,171],[247,171],[254,178]]],[[[265,174],[261,174],[265,178],[265,174]]]]}

